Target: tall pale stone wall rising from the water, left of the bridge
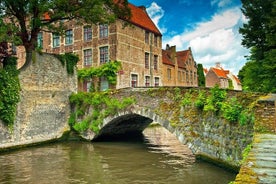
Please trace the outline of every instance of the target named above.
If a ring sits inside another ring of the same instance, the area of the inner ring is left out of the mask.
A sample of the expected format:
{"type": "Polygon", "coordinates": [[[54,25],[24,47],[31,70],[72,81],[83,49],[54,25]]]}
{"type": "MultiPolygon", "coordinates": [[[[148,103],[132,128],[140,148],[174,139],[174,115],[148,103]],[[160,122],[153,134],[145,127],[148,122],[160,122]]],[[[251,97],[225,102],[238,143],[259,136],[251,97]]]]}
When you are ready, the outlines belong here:
{"type": "Polygon", "coordinates": [[[69,95],[77,91],[76,75],[53,55],[36,54],[20,72],[20,102],[12,130],[0,122],[0,150],[54,140],[69,131],[69,95]]]}

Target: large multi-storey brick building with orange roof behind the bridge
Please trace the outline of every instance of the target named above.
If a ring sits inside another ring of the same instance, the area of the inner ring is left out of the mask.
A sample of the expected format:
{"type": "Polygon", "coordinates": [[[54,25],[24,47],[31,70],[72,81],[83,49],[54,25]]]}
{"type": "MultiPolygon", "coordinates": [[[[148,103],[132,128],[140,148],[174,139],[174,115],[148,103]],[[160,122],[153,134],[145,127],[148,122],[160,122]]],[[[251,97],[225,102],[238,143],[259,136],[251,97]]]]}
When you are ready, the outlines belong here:
{"type": "MultiPolygon", "coordinates": [[[[110,61],[120,61],[116,88],[159,86],[162,84],[162,34],[148,16],[145,7],[129,4],[132,17],[118,19],[110,25],[79,25],[74,20],[64,22],[68,29],[64,36],[41,32],[38,46],[43,52],[79,56],[78,68],[97,67],[110,61]]],[[[19,47],[20,48],[20,47],[19,47]]],[[[18,52],[19,66],[24,52],[18,52]]],[[[88,90],[91,81],[80,83],[80,90],[88,90]]],[[[107,80],[99,79],[101,90],[107,80]]]]}

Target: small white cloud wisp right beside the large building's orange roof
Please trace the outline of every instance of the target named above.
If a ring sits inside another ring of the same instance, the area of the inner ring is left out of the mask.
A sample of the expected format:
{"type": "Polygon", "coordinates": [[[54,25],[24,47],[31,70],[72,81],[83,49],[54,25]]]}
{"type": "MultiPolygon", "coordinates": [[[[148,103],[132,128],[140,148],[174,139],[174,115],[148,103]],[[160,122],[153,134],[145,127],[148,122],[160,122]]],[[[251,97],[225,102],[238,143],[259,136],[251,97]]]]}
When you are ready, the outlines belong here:
{"type": "Polygon", "coordinates": [[[151,5],[147,8],[147,13],[149,14],[150,18],[154,22],[154,24],[158,27],[158,29],[165,33],[167,28],[160,27],[159,21],[164,16],[165,11],[159,6],[156,2],[152,2],[151,5]]]}

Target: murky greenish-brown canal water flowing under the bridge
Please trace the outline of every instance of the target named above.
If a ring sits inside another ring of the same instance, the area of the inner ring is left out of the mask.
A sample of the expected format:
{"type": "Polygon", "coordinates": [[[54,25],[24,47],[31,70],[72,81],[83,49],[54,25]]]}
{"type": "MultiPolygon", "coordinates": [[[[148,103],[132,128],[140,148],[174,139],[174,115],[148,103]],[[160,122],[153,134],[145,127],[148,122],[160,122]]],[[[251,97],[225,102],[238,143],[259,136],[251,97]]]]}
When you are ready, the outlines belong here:
{"type": "Polygon", "coordinates": [[[228,184],[235,173],[196,161],[161,127],[135,140],[63,142],[0,154],[0,184],[228,184]]]}

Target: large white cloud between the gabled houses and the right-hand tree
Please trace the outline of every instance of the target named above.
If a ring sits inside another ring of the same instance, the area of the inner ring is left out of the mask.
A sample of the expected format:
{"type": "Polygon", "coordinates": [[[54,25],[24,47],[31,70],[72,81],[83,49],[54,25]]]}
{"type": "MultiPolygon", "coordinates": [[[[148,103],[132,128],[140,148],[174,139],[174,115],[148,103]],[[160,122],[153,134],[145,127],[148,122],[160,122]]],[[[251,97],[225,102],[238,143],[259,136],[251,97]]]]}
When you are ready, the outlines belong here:
{"type": "Polygon", "coordinates": [[[191,47],[195,60],[204,67],[210,68],[220,62],[225,69],[238,74],[246,61],[244,56],[248,54],[248,50],[241,46],[241,35],[237,29],[243,20],[239,8],[226,10],[214,15],[210,21],[196,24],[193,30],[164,38],[163,48],[166,44],[176,45],[177,50],[191,47]]]}

